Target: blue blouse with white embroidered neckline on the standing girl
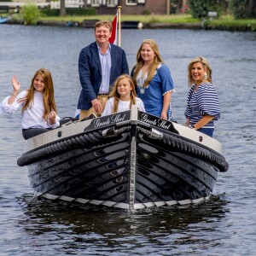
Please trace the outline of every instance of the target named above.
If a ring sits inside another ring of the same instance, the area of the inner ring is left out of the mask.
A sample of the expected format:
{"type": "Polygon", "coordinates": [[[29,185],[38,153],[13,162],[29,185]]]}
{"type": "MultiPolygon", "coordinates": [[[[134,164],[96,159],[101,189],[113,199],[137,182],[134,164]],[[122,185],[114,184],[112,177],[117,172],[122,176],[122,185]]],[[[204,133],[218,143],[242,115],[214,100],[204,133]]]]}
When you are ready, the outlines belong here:
{"type": "MultiPolygon", "coordinates": [[[[137,76],[137,96],[143,100],[147,113],[160,117],[164,104],[164,95],[174,89],[171,72],[165,64],[160,63],[153,79],[146,87],[143,87],[144,80],[145,78],[143,79],[139,73],[137,76]]],[[[172,119],[171,104],[167,116],[168,119],[172,119]]]]}

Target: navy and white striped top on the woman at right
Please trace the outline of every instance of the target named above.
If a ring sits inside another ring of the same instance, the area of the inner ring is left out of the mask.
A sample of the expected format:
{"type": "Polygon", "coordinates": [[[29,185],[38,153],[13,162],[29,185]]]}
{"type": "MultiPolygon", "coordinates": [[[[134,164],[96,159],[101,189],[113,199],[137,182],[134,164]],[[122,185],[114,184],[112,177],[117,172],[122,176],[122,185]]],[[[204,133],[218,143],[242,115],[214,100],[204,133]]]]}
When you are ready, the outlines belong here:
{"type": "Polygon", "coordinates": [[[214,128],[213,120],[220,118],[218,95],[211,83],[202,83],[195,91],[195,84],[189,90],[185,116],[190,125],[195,125],[204,115],[213,116],[211,122],[202,128],[214,128]]]}

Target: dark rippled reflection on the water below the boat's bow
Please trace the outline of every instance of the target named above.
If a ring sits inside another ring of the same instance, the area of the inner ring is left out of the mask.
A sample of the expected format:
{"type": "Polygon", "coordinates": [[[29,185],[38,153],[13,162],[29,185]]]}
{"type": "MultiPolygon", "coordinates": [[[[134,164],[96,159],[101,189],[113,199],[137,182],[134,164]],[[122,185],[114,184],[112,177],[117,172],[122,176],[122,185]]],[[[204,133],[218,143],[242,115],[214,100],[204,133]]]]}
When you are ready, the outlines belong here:
{"type": "MultiPolygon", "coordinates": [[[[28,195],[23,195],[19,201],[26,215],[20,220],[20,225],[37,250],[50,244],[52,252],[78,253],[76,250],[82,252],[86,249],[86,253],[91,250],[94,255],[139,253],[148,245],[150,253],[158,253],[160,248],[165,252],[170,248],[175,250],[177,245],[187,247],[195,241],[212,247],[216,242],[214,234],[220,236],[221,220],[229,212],[225,195],[212,195],[209,201],[199,205],[137,212],[77,203],[31,201],[28,195]],[[162,247],[164,244],[168,247],[162,247]]],[[[183,255],[180,247],[176,255],[183,255]]]]}

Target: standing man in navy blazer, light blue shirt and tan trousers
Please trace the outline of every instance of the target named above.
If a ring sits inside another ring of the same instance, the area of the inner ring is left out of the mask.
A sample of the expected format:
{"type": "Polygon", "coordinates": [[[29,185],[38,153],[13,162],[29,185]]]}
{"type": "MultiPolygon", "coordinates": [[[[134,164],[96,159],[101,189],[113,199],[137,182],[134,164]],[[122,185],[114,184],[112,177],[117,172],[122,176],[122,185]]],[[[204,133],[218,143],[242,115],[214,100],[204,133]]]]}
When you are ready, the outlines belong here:
{"type": "Polygon", "coordinates": [[[82,90],[78,108],[79,119],[100,115],[108,100],[108,94],[115,79],[123,73],[129,74],[124,49],[109,44],[112,23],[108,20],[96,22],[94,26],[96,42],[86,46],[79,55],[79,79],[82,90]]]}

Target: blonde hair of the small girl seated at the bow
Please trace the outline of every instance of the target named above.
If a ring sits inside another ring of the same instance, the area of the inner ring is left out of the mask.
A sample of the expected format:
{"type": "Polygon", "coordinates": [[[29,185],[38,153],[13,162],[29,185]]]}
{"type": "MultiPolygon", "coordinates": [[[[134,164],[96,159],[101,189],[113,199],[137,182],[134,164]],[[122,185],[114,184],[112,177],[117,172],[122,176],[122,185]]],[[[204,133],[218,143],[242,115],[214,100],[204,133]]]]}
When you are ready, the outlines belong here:
{"type": "Polygon", "coordinates": [[[113,97],[113,112],[112,113],[117,113],[118,108],[119,108],[119,99],[120,99],[120,95],[118,93],[118,84],[119,81],[122,79],[127,79],[129,84],[131,85],[131,102],[130,102],[130,109],[131,109],[131,105],[136,105],[136,97],[137,97],[137,93],[135,90],[135,86],[133,84],[133,81],[131,79],[131,76],[128,74],[122,74],[120,75],[114,82],[113,84],[113,90],[111,90],[109,96],[113,97]]]}

